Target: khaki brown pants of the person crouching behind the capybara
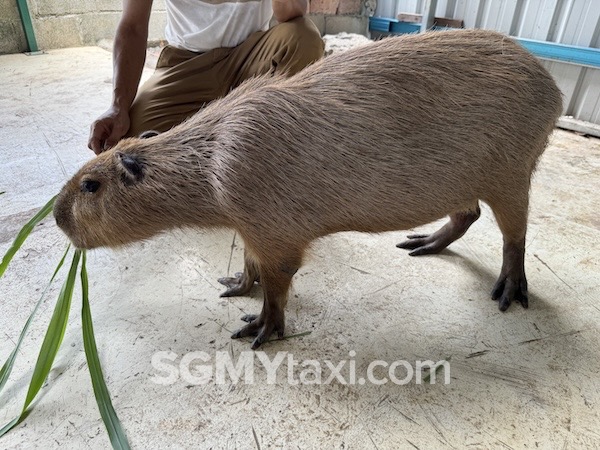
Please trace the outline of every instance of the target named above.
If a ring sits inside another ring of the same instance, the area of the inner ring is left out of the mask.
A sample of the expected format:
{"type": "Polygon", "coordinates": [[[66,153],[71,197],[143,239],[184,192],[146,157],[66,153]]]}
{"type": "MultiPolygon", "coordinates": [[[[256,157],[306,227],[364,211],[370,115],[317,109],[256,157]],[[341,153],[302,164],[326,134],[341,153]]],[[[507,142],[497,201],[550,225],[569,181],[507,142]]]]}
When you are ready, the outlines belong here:
{"type": "Polygon", "coordinates": [[[127,136],[166,131],[244,80],[268,73],[293,75],[320,59],[323,50],[319,31],[304,17],[253,33],[234,48],[199,54],[167,46],[131,106],[127,136]]]}

